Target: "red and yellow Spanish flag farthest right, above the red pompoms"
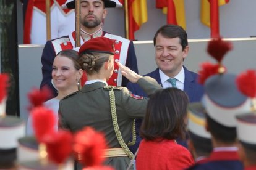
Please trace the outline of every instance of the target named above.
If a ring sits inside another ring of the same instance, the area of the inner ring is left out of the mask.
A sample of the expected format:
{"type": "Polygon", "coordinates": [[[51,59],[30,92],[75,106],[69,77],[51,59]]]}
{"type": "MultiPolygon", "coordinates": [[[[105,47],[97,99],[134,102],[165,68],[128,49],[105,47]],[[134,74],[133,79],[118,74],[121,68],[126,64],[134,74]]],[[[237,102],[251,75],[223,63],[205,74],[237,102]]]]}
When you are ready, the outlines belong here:
{"type": "Polygon", "coordinates": [[[219,6],[229,0],[201,0],[201,22],[211,28],[211,38],[220,36],[219,6]]]}

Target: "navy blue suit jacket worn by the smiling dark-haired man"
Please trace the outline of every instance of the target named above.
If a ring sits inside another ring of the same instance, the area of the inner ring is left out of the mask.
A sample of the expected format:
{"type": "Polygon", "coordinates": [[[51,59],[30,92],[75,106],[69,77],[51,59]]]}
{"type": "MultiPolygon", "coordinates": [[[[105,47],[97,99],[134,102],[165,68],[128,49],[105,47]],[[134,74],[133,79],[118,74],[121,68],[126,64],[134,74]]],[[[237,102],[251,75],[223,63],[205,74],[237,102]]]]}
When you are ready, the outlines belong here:
{"type": "MultiPolygon", "coordinates": [[[[187,68],[184,67],[184,66],[183,66],[183,68],[184,68],[184,72],[185,72],[184,91],[188,95],[190,103],[200,102],[200,100],[203,96],[204,90],[203,90],[203,86],[201,84],[197,83],[198,74],[187,70],[187,68]]],[[[151,73],[148,73],[147,75],[144,75],[144,76],[150,76],[151,78],[156,79],[158,84],[160,84],[160,86],[161,86],[159,68],[156,68],[155,71],[152,71],[151,73]]],[[[127,84],[127,88],[129,89],[129,91],[132,92],[132,94],[147,97],[147,94],[143,91],[142,88],[140,88],[140,86],[138,84],[129,82],[127,84]]],[[[141,124],[142,124],[142,119],[136,119],[137,141],[136,141],[136,144],[134,146],[129,147],[130,150],[133,153],[136,152],[136,150],[137,150],[137,148],[139,147],[139,144],[140,144],[141,138],[139,136],[139,134],[140,134],[139,131],[140,131],[141,124]]],[[[184,147],[187,147],[186,141],[177,139],[177,142],[179,144],[183,145],[184,147]]]]}

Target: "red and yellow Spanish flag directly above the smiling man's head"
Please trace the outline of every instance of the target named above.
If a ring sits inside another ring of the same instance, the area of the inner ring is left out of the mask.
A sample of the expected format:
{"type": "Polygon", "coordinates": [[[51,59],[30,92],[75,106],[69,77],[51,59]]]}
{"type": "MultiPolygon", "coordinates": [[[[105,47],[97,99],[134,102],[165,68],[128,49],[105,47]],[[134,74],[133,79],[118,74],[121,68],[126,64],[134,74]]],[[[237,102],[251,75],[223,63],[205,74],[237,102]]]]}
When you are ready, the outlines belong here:
{"type": "Polygon", "coordinates": [[[156,8],[167,14],[167,23],[176,24],[186,29],[184,0],[156,0],[156,8]]]}

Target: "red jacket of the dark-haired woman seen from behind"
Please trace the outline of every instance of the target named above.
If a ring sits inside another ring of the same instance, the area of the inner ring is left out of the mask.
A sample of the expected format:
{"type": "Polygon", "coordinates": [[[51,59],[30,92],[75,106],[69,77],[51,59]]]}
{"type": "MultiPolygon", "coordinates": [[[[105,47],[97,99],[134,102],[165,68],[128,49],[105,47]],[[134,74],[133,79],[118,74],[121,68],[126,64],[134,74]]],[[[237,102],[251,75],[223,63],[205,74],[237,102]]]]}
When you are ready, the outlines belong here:
{"type": "Polygon", "coordinates": [[[153,142],[142,140],[136,159],[136,169],[184,169],[192,166],[194,160],[186,148],[174,140],[153,142]]]}

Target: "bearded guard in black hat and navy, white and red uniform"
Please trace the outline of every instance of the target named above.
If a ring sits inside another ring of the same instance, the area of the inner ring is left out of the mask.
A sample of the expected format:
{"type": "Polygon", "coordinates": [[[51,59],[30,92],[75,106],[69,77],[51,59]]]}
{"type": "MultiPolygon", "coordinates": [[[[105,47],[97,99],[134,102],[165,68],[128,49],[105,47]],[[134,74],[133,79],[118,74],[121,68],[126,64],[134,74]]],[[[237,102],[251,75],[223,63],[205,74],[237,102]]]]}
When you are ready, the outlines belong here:
{"type": "MultiPolygon", "coordinates": [[[[123,65],[126,65],[131,70],[138,72],[137,59],[134,50],[134,44],[132,41],[122,38],[121,36],[116,36],[114,34],[109,34],[103,31],[103,20],[106,18],[107,10],[105,7],[122,7],[117,0],[81,0],[80,2],[80,44],[89,39],[96,38],[99,36],[104,36],[109,39],[114,40],[114,60],[118,60],[123,65]]],[[[68,0],[66,4],[62,6],[63,8],[74,8],[75,1],[68,0]]],[[[41,81],[40,87],[46,84],[53,89],[56,93],[57,89],[54,88],[51,78],[51,70],[53,65],[53,60],[56,54],[63,49],[72,49],[75,47],[75,31],[70,33],[68,36],[63,36],[58,39],[53,39],[47,41],[43,54],[41,57],[43,80],[41,81]]],[[[86,78],[82,78],[82,86],[86,78]]],[[[109,85],[112,86],[126,86],[128,80],[122,77],[121,72],[116,63],[114,63],[114,73],[108,81],[109,85]]]]}

